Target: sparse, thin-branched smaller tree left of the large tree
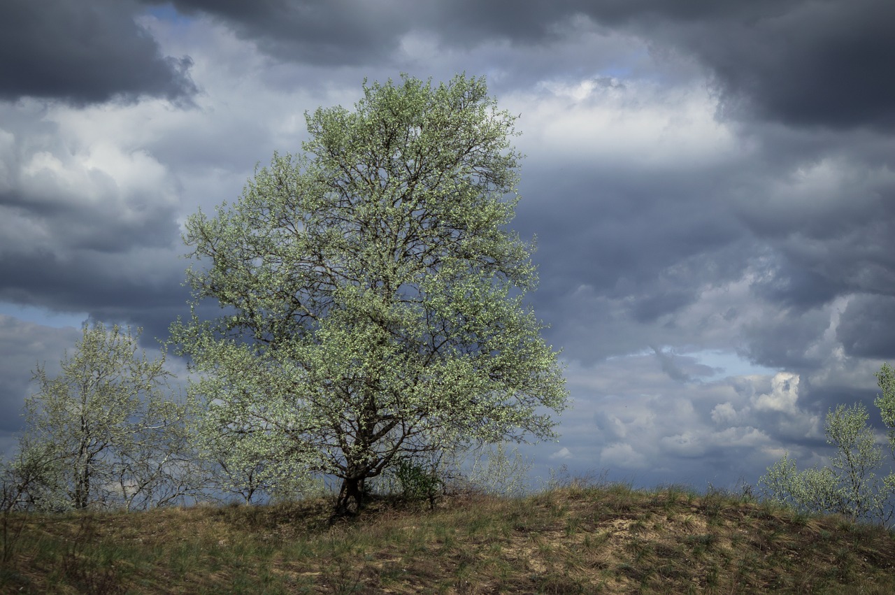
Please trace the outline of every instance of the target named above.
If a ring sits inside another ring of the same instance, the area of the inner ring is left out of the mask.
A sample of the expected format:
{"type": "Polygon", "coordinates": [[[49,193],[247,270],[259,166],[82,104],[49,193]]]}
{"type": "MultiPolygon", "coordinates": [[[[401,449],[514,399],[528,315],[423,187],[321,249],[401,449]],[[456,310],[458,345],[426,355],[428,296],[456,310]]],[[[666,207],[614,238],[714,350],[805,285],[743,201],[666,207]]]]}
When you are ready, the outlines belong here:
{"type": "Polygon", "coordinates": [[[164,356],[137,356],[139,333],[85,325],[60,376],[38,365],[4,477],[10,506],[145,508],[192,489],[184,408],[165,398],[164,356]]]}

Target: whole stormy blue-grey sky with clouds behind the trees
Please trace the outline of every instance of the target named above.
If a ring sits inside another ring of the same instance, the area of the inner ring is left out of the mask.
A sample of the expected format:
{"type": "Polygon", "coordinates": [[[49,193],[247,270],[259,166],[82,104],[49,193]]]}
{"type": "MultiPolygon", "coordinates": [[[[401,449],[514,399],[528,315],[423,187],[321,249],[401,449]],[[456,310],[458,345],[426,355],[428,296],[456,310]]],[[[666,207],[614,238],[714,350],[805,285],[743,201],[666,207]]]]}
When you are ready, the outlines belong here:
{"type": "Polygon", "coordinates": [[[5,0],[0,452],[85,319],[158,353],[186,217],[402,72],[483,75],[520,116],[512,226],[570,391],[533,474],[735,489],[823,464],[840,403],[882,440],[893,25],[891,0],[5,0]]]}

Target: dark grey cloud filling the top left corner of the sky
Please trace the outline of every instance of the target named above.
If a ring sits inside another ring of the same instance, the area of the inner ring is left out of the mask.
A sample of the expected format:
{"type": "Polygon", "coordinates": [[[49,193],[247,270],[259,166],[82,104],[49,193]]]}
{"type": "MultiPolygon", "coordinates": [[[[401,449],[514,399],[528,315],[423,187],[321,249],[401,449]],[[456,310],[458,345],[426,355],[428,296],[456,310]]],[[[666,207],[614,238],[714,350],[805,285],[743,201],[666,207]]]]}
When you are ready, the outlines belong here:
{"type": "Polygon", "coordinates": [[[142,95],[184,100],[189,57],[162,55],[128,0],[7,0],[0,9],[0,98],[74,104],[142,95]]]}

